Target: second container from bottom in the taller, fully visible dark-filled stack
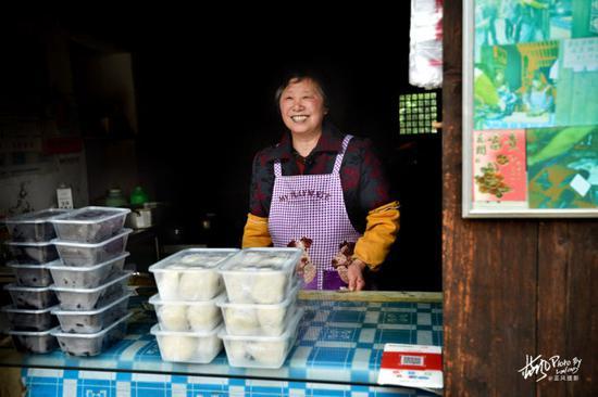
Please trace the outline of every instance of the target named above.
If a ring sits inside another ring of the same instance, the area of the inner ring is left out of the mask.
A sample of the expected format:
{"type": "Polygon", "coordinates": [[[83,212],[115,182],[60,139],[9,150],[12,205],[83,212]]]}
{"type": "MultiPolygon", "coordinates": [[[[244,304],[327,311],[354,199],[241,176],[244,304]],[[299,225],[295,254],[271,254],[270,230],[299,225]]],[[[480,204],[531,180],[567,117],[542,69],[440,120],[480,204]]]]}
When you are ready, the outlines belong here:
{"type": "Polygon", "coordinates": [[[128,312],[128,299],[132,293],[100,307],[96,310],[71,311],[54,308],[52,315],[58,317],[63,332],[78,334],[94,334],[100,332],[107,325],[113,323],[128,312]]]}

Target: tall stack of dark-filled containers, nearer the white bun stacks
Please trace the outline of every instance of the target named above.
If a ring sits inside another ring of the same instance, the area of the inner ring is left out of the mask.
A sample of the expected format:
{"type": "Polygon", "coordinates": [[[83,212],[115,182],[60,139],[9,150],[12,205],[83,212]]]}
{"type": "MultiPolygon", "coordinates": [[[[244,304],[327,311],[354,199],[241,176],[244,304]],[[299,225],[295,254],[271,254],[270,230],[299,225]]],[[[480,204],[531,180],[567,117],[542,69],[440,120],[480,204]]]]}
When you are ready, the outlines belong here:
{"type": "Polygon", "coordinates": [[[130,229],[123,229],[126,208],[84,207],[53,217],[60,261],[48,266],[59,307],[60,326],[51,335],[74,356],[96,356],[126,334],[127,287],[123,270],[130,229]]]}

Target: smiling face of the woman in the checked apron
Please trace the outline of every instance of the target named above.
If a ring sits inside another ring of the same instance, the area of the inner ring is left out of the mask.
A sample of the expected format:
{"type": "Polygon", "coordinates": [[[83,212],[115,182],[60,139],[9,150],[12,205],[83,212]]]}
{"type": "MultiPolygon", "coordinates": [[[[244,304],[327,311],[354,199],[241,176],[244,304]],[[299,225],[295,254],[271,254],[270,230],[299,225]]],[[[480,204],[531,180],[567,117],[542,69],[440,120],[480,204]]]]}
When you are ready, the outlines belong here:
{"type": "Polygon", "coordinates": [[[281,115],[292,133],[317,132],[327,113],[317,85],[309,78],[291,80],[281,95],[281,115]]]}

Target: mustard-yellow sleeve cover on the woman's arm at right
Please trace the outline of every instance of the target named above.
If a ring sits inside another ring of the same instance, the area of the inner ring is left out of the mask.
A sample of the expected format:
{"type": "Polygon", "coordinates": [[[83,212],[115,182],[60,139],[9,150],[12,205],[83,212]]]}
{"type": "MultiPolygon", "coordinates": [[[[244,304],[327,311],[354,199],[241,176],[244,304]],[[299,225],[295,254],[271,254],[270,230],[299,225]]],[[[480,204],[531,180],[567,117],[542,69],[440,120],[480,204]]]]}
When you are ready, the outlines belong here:
{"type": "Polygon", "coordinates": [[[375,270],[386,259],[399,231],[399,202],[391,202],[372,209],[365,232],[356,243],[353,256],[375,270]]]}

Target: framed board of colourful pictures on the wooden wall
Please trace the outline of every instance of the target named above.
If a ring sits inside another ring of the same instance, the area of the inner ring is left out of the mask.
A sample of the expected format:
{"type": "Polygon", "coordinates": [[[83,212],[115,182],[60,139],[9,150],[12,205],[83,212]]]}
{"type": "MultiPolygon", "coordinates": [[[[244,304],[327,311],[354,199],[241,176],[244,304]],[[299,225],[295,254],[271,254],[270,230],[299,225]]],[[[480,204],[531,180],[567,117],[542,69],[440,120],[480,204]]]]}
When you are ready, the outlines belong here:
{"type": "Polygon", "coordinates": [[[463,0],[463,216],[598,217],[598,0],[463,0]]]}

